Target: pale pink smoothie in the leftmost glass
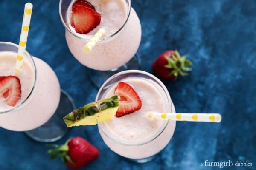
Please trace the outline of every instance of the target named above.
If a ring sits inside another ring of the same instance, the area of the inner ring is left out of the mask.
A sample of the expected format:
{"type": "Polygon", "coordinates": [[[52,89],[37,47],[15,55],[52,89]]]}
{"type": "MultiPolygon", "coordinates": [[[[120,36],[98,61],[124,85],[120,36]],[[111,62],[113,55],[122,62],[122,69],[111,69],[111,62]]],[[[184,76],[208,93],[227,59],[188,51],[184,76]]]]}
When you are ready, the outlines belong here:
{"type": "Polygon", "coordinates": [[[21,98],[14,107],[0,100],[0,127],[14,131],[32,130],[47,122],[55,112],[60,85],[52,68],[41,59],[32,59],[28,53],[21,72],[15,74],[16,57],[16,52],[0,51],[0,76],[17,76],[21,85],[21,98]]]}

